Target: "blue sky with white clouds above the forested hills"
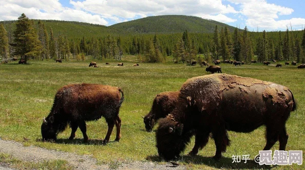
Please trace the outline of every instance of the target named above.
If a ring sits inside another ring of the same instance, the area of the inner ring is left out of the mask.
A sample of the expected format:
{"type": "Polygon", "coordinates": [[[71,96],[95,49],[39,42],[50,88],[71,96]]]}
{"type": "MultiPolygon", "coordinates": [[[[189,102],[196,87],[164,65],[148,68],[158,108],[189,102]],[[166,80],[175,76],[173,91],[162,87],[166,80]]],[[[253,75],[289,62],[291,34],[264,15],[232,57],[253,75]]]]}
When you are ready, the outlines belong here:
{"type": "Polygon", "coordinates": [[[2,0],[0,21],[29,18],[113,25],[157,15],[192,15],[251,31],[305,26],[305,1],[275,0],[2,0]]]}

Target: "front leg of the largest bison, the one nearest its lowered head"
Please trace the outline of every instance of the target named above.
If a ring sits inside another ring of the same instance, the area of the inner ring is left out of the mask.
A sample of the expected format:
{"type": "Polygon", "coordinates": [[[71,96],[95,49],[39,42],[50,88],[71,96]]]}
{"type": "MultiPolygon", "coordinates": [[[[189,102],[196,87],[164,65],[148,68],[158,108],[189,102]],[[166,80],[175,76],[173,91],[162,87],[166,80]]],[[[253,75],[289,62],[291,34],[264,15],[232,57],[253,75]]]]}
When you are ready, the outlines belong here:
{"type": "Polygon", "coordinates": [[[197,155],[199,149],[202,149],[208,142],[208,138],[209,138],[209,131],[205,131],[204,133],[197,133],[195,135],[195,145],[192,151],[188,153],[188,155],[192,155],[192,156],[197,155]]]}

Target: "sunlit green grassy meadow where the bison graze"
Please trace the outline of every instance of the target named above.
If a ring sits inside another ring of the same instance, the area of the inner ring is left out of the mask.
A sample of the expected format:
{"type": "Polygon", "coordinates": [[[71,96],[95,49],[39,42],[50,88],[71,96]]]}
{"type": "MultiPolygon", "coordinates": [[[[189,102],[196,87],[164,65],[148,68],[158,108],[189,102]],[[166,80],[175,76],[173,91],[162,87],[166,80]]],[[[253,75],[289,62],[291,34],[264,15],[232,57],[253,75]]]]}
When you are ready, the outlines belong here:
{"type": "MultiPolygon", "coordinates": [[[[88,154],[100,163],[154,161],[164,163],[158,157],[155,132],[147,133],[141,115],[150,110],[155,96],[163,91],[179,90],[181,85],[192,77],[209,74],[205,67],[186,66],[185,64],[139,63],[133,67],[135,58],[123,58],[124,66],[116,66],[117,61],[96,61],[99,68],[88,67],[87,61],[28,61],[21,65],[18,61],[0,65],[0,138],[22,142],[48,149],[63,150],[77,154],[88,154]],[[127,60],[128,59],[128,60],[127,60]],[[111,65],[105,65],[110,62],[111,65]],[[97,83],[122,87],[125,101],[120,110],[122,119],[120,142],[113,142],[116,128],[113,129],[110,142],[102,145],[106,136],[107,124],[102,118],[87,122],[89,142],[83,143],[83,135],[78,129],[74,140],[68,140],[71,129],[67,128],[58,136],[55,143],[41,141],[41,124],[51,109],[56,91],[72,83],[97,83]]],[[[297,101],[297,110],[291,112],[287,122],[289,134],[286,150],[305,151],[305,69],[296,66],[262,64],[233,66],[221,64],[223,73],[271,81],[287,86],[297,101]]],[[[155,127],[156,129],[156,127],[155,127]]],[[[259,166],[253,159],[265,145],[265,127],[260,127],[249,134],[230,131],[231,146],[220,161],[212,157],[216,148],[213,139],[199,152],[198,156],[189,157],[187,153],[194,146],[194,137],[187,146],[180,164],[198,169],[304,169],[305,165],[259,166]],[[250,155],[247,163],[232,163],[233,155],[250,155]]],[[[278,149],[278,142],[272,148],[278,149]]],[[[304,158],[304,152],[303,152],[304,158]]]]}

